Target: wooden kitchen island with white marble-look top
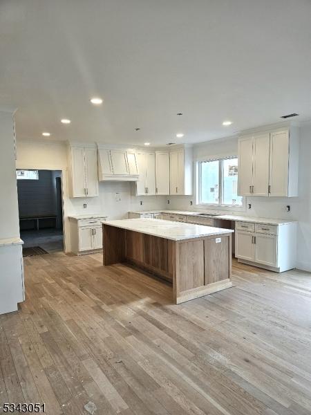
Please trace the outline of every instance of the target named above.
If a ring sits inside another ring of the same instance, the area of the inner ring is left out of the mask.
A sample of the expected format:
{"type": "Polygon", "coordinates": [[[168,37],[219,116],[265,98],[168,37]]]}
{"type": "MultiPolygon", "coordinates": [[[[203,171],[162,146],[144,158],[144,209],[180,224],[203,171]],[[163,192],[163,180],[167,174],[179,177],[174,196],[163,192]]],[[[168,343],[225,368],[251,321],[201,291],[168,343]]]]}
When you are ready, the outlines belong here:
{"type": "Polygon", "coordinates": [[[175,304],[232,286],[231,229],[162,219],[102,225],[104,266],[127,262],[166,279],[175,304]]]}

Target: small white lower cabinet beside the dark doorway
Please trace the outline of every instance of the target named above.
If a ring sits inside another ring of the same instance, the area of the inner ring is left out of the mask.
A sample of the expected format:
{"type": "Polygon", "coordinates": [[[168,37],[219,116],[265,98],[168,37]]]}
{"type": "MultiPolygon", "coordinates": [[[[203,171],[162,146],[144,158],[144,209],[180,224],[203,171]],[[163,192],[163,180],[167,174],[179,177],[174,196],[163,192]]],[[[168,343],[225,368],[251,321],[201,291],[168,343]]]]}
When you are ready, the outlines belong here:
{"type": "Polygon", "coordinates": [[[102,249],[102,221],[105,220],[105,217],[70,218],[71,252],[80,255],[102,249]]]}

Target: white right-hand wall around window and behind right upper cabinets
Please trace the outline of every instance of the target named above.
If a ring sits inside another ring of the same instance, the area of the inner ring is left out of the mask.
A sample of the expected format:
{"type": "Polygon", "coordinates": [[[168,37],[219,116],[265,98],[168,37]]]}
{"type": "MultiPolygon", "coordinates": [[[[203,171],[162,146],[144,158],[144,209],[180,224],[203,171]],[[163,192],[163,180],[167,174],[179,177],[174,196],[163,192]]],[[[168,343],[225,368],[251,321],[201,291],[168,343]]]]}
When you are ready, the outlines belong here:
{"type": "MultiPolygon", "coordinates": [[[[238,154],[238,139],[227,138],[212,142],[200,143],[194,146],[194,159],[205,156],[230,156],[238,154]]],[[[202,210],[196,207],[196,195],[170,196],[169,209],[202,210]],[[193,201],[193,205],[190,205],[193,201]]],[[[311,124],[305,124],[300,129],[299,151],[299,197],[268,198],[249,197],[246,203],[251,203],[249,210],[239,211],[238,214],[247,216],[261,216],[275,219],[292,219],[298,221],[298,243],[296,267],[311,271],[311,124]],[[290,205],[290,212],[286,212],[286,205],[290,205]]],[[[205,210],[207,211],[207,210],[205,210]]],[[[210,209],[211,211],[211,209],[210,209]]],[[[217,212],[229,213],[227,210],[217,212]]],[[[232,213],[237,213],[231,210],[232,213]]]]}

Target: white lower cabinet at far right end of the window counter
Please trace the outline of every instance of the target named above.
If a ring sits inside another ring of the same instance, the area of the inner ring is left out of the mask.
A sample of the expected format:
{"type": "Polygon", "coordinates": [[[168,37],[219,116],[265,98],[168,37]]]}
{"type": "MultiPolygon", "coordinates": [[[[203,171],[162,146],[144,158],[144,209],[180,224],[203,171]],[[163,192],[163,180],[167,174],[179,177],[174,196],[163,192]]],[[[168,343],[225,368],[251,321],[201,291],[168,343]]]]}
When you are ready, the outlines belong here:
{"type": "Polygon", "coordinates": [[[281,273],[295,267],[296,223],[265,225],[236,222],[236,258],[281,273]],[[254,232],[255,230],[255,232],[254,232]]]}

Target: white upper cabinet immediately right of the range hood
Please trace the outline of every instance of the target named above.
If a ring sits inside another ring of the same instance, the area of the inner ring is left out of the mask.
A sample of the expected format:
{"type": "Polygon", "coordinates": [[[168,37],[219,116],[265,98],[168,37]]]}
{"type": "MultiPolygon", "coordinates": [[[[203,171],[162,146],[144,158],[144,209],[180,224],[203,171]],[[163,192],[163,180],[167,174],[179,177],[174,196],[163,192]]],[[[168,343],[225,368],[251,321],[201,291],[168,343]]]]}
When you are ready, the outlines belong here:
{"type": "Polygon", "coordinates": [[[140,152],[136,154],[138,161],[138,181],[136,194],[152,196],[156,194],[156,154],[140,152]]]}

